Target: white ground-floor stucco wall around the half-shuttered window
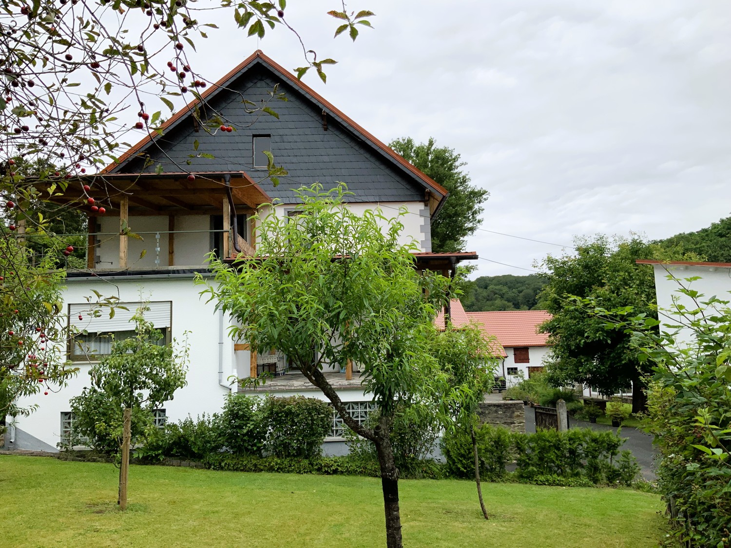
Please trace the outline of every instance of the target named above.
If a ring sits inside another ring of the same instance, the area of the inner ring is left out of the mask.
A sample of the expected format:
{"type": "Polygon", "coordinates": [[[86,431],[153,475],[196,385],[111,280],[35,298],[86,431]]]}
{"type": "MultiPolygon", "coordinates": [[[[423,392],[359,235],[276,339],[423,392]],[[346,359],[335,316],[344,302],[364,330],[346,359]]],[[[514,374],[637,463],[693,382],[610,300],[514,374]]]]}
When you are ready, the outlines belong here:
{"type": "MultiPolygon", "coordinates": [[[[173,338],[183,339],[183,333],[189,331],[190,363],[186,387],[175,392],[174,400],[164,404],[169,420],[176,422],[188,414],[197,416],[202,413],[214,413],[221,410],[224,395],[229,389],[219,385],[219,337],[221,332],[219,314],[213,310],[213,303],[205,303],[199,297],[200,287],[194,286],[192,278],[178,279],[137,279],[109,281],[67,280],[67,291],[64,294],[66,303],[86,302],[84,297],[92,295],[91,289],[109,295],[118,288],[121,301],[135,302],[140,298],[140,287],[143,296],[154,301],[173,301],[173,338]],[[116,286],[116,287],[115,287],[116,286]]],[[[226,378],[237,373],[236,362],[249,366],[249,352],[234,352],[233,341],[227,336],[228,319],[224,319],[223,332],[223,370],[226,378]],[[234,354],[241,354],[234,359],[234,354]]],[[[17,427],[25,433],[38,438],[45,444],[56,446],[61,434],[61,412],[70,411],[69,399],[80,395],[83,387],[88,386],[88,363],[76,362],[80,371],[69,385],[59,392],[50,392],[48,396],[38,395],[23,398],[18,403],[27,406],[37,403],[38,408],[29,417],[17,417],[17,427]]]]}

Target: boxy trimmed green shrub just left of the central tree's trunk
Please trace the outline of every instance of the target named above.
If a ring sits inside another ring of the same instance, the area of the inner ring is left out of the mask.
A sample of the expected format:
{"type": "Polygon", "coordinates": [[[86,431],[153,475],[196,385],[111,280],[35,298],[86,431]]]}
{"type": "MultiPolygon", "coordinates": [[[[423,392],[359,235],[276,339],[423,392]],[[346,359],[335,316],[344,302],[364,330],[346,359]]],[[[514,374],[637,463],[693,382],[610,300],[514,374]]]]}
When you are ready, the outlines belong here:
{"type": "Polygon", "coordinates": [[[333,411],[314,397],[269,396],[262,406],[267,427],[266,452],[280,458],[319,457],[322,441],[330,433],[333,411]]]}

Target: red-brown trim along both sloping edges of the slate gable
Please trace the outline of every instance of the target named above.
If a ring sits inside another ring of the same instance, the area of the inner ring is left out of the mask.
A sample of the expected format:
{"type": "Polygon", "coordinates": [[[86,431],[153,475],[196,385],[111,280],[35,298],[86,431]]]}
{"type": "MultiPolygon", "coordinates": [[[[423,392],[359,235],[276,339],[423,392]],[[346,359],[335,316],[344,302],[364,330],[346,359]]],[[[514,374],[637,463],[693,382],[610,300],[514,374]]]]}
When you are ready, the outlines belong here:
{"type": "MultiPolygon", "coordinates": [[[[238,72],[242,71],[244,68],[246,68],[247,65],[251,64],[252,61],[255,61],[257,58],[260,58],[265,64],[270,66],[270,68],[274,69],[276,72],[279,72],[282,76],[286,77],[292,85],[295,86],[295,88],[299,88],[300,91],[303,91],[305,94],[310,95],[315,101],[321,103],[324,107],[329,109],[331,113],[336,115],[338,118],[341,118],[341,121],[343,121],[346,125],[351,126],[352,129],[355,129],[355,131],[359,132],[363,135],[363,137],[366,137],[366,140],[370,141],[372,145],[375,145],[376,148],[381,149],[381,151],[385,152],[388,156],[390,156],[393,160],[395,160],[398,164],[400,164],[402,167],[405,167],[406,170],[412,173],[412,175],[415,175],[420,180],[423,180],[424,183],[426,183],[427,186],[431,187],[433,191],[436,191],[436,193],[442,195],[442,199],[444,197],[447,197],[447,194],[449,194],[449,191],[445,189],[442,185],[437,183],[432,178],[428,177],[428,175],[425,175],[423,172],[418,170],[416,167],[414,167],[412,164],[409,164],[408,161],[404,160],[399,156],[395,151],[393,151],[392,148],[385,145],[380,140],[376,139],[373,134],[366,131],[366,129],[363,129],[362,126],[355,123],[351,118],[346,116],[344,113],[341,112],[338,108],[336,108],[333,104],[328,102],[324,97],[322,97],[320,94],[317,93],[317,91],[314,91],[314,89],[310,88],[306,83],[303,83],[302,81],[298,80],[295,75],[292,75],[284,69],[281,65],[274,62],[269,57],[265,56],[265,54],[262,52],[262,50],[257,50],[254,53],[252,53],[249,57],[244,59],[238,66],[235,67],[235,69],[232,69],[230,72],[227,73],[224,77],[219,79],[216,83],[211,85],[210,88],[203,91],[202,94],[200,94],[201,99],[207,99],[211,94],[216,93],[216,91],[219,91],[220,88],[223,87],[224,83],[226,83],[228,80],[230,80],[232,77],[237,75],[238,72]]],[[[192,108],[199,103],[198,99],[193,99],[191,102],[186,104],[185,107],[181,108],[181,110],[178,110],[177,113],[175,113],[173,116],[171,116],[165,123],[162,124],[162,130],[169,129],[170,126],[173,126],[175,123],[181,120],[183,116],[188,115],[192,108]]],[[[120,167],[122,164],[124,164],[126,161],[132,158],[135,154],[141,152],[143,148],[145,148],[146,145],[150,144],[154,140],[154,136],[156,134],[148,134],[148,136],[143,137],[140,142],[137,142],[136,145],[134,145],[132,148],[130,148],[128,151],[123,153],[119,157],[119,161],[113,164],[109,164],[107,167],[105,167],[104,170],[102,170],[102,173],[110,172],[111,170],[114,170],[116,167],[120,167]]],[[[441,199],[440,199],[441,202],[441,199]]]]}

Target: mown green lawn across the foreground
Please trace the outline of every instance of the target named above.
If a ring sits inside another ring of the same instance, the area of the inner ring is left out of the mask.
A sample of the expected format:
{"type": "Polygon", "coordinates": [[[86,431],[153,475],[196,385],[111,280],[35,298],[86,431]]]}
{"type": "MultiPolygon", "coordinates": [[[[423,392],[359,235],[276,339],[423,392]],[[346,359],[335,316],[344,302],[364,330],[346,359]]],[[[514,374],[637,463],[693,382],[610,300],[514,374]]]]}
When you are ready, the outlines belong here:
{"type": "MultiPolygon", "coordinates": [[[[132,466],[116,508],[108,464],[0,455],[0,544],[7,547],[379,547],[378,479],[132,466]]],[[[655,547],[657,495],[631,490],[405,480],[406,547],[655,547]]]]}

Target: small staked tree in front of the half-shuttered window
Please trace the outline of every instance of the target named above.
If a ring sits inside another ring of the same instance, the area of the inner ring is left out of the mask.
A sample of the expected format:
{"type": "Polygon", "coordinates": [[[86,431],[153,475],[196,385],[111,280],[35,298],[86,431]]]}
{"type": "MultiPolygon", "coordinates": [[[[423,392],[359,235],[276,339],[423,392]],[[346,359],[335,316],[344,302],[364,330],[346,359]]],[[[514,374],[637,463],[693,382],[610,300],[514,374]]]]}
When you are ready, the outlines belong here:
{"type": "MultiPolygon", "coordinates": [[[[110,354],[102,356],[89,371],[91,387],[85,397],[101,397],[107,402],[105,411],[115,409],[110,424],[103,430],[119,440],[121,467],[119,473],[120,509],[127,506],[127,476],[129,473],[129,446],[131,443],[132,414],[135,410],[148,411],[172,400],[175,390],[186,385],[188,346],[175,349],[173,344],[160,344],[162,333],[145,321],[144,305],[137,309],[135,336],[114,340],[110,354]]],[[[106,413],[108,415],[108,413],[106,413]]],[[[99,427],[99,425],[96,425],[99,427]]]]}

